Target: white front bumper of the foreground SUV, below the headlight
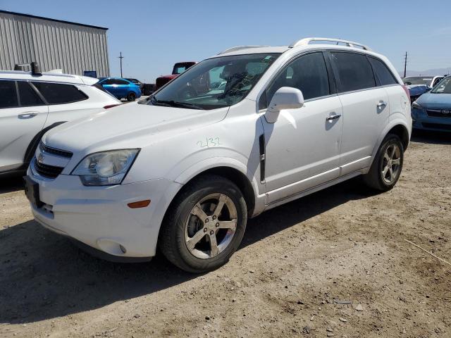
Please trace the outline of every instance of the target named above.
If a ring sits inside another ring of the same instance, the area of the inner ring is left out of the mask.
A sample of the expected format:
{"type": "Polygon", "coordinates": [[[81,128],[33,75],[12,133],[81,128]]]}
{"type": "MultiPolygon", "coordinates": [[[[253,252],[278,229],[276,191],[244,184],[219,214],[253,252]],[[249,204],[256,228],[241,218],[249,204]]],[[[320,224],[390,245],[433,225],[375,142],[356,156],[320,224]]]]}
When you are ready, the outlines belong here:
{"type": "Polygon", "coordinates": [[[97,251],[118,257],[155,256],[166,208],[180,184],[165,179],[106,187],[85,187],[78,176],[39,180],[40,208],[30,204],[35,220],[49,230],[72,237],[97,251]],[[127,204],[150,199],[145,208],[127,204]]]}

